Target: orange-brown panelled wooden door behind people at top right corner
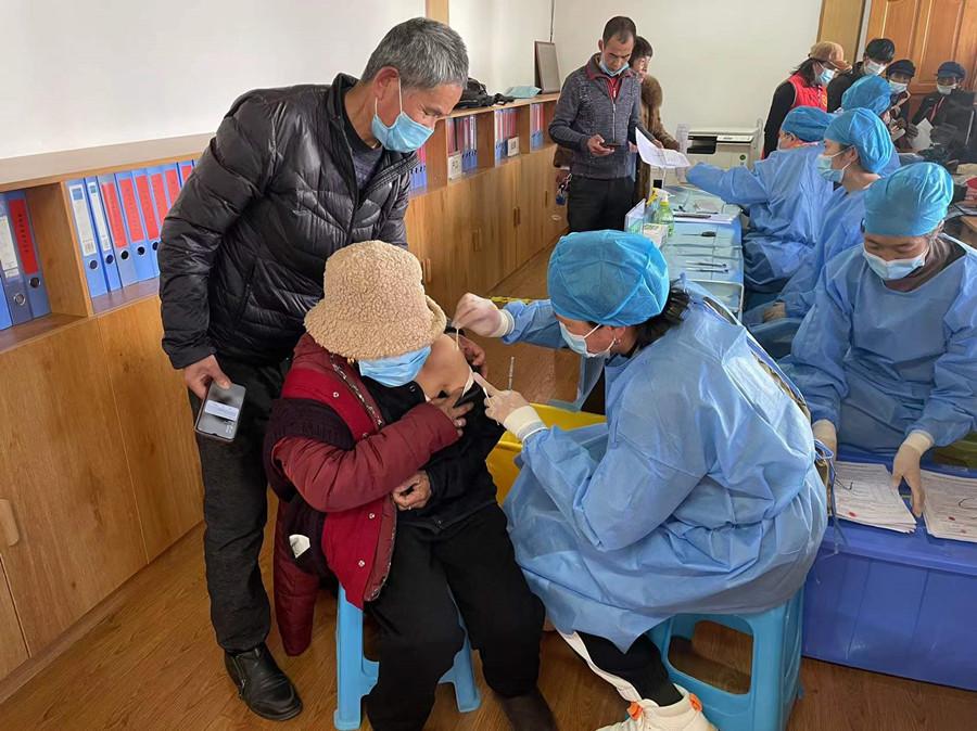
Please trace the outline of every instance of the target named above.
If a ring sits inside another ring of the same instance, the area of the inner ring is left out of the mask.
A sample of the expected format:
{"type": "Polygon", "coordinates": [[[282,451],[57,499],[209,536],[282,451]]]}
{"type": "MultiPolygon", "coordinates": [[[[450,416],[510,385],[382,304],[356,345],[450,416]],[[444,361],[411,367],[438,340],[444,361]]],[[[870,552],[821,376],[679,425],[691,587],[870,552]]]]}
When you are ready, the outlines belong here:
{"type": "Polygon", "coordinates": [[[944,61],[967,69],[966,86],[977,73],[977,0],[874,0],[868,39],[891,38],[897,59],[912,59],[913,94],[936,90],[936,72],[944,61]]]}

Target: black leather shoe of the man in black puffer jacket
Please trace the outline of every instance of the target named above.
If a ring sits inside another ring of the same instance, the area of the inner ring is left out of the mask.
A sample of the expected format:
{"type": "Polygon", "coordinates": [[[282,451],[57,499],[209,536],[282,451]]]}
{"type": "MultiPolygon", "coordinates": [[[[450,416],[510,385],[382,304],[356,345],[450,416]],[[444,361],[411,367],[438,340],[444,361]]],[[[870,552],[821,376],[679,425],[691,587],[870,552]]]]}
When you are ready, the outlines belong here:
{"type": "Polygon", "coordinates": [[[270,721],[287,721],[302,713],[302,698],[262,642],[232,655],[224,653],[224,666],[238,687],[238,695],[251,710],[270,721]]]}

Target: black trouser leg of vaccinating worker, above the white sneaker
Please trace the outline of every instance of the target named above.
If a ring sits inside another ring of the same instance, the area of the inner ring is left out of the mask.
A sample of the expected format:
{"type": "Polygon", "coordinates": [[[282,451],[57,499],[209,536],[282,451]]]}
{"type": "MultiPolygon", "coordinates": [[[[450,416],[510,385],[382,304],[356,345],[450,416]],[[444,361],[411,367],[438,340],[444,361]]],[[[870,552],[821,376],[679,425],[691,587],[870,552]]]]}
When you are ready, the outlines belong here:
{"type": "Polygon", "coordinates": [[[578,632],[594,663],[605,672],[631,683],[642,698],[670,706],[682,700],[682,694],[669,680],[669,671],[661,662],[656,644],[643,634],[627,652],[621,652],[610,640],[596,634],[578,632]]]}

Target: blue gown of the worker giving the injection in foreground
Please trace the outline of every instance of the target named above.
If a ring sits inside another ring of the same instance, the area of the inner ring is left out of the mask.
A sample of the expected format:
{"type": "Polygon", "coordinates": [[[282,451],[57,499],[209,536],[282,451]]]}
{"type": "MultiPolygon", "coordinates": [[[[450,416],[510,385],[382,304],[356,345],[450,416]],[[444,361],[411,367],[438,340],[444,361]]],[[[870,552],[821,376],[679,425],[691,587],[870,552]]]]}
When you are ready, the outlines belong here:
{"type": "Polygon", "coordinates": [[[505,504],[554,624],[625,650],[676,613],[790,598],[824,533],[825,489],[810,423],[746,331],[694,298],[606,375],[608,423],[531,436],[505,504]]]}

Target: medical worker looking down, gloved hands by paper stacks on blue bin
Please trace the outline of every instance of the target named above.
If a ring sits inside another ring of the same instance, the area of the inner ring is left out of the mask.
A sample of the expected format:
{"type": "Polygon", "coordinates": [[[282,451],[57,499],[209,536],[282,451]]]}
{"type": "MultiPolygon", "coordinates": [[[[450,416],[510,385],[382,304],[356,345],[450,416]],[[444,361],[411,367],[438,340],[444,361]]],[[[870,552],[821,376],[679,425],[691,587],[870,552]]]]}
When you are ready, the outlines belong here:
{"type": "Polygon", "coordinates": [[[828,264],[786,360],[815,435],[894,451],[916,515],[923,454],[977,427],[977,253],[941,234],[952,194],[932,163],[870,188],[864,246],[828,264]]]}

